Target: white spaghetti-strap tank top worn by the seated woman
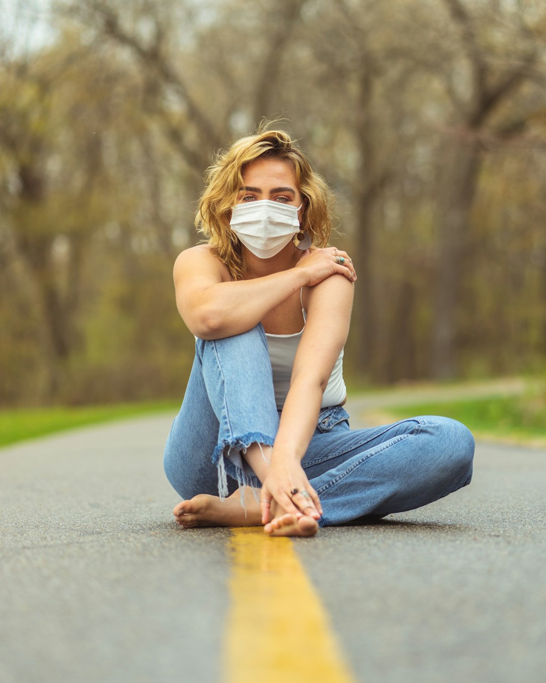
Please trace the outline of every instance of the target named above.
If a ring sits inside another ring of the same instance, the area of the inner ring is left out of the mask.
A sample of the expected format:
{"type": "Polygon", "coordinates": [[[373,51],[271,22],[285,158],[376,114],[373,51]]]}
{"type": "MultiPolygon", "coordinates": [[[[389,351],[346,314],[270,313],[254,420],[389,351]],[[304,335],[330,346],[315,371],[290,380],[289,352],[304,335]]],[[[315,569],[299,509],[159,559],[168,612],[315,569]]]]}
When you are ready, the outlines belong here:
{"type": "MultiPolygon", "coordinates": [[[[300,292],[300,301],[301,301],[300,292]]],[[[302,303],[302,313],[304,323],[307,320],[306,313],[302,303]]],[[[302,338],[305,324],[301,332],[296,332],[294,335],[270,335],[267,332],[265,336],[268,337],[269,358],[271,361],[271,368],[273,370],[273,387],[275,389],[275,402],[277,410],[282,410],[285,404],[288,390],[290,388],[290,378],[292,374],[292,366],[296,358],[296,351],[298,344],[302,338]]],[[[339,354],[338,359],[330,374],[328,385],[322,394],[321,408],[328,408],[329,406],[339,406],[343,403],[347,395],[347,387],[343,381],[343,349],[339,354]]]]}

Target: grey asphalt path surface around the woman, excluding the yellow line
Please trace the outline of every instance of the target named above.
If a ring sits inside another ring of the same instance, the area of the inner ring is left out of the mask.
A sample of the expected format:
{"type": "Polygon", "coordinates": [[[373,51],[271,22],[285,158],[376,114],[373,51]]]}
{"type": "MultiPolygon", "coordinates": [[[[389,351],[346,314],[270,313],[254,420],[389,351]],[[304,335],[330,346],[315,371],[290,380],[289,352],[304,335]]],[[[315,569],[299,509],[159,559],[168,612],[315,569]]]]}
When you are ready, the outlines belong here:
{"type": "MultiPolygon", "coordinates": [[[[229,531],[171,521],[171,417],[0,450],[3,683],[222,680],[229,531]]],[[[296,540],[354,679],[542,683],[545,491],[546,451],[480,443],[465,490],[296,540]]]]}

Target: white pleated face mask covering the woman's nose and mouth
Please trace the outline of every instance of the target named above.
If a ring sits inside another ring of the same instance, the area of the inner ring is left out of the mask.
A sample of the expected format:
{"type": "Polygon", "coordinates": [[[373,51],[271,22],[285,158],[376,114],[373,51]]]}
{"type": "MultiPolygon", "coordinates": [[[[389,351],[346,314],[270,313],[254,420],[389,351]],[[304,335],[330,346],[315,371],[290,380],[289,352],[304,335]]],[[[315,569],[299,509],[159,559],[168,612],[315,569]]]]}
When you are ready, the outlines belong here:
{"type": "Polygon", "coordinates": [[[242,244],[258,258],[271,258],[284,249],[300,230],[300,206],[260,199],[235,204],[231,211],[231,229],[242,244]]]}

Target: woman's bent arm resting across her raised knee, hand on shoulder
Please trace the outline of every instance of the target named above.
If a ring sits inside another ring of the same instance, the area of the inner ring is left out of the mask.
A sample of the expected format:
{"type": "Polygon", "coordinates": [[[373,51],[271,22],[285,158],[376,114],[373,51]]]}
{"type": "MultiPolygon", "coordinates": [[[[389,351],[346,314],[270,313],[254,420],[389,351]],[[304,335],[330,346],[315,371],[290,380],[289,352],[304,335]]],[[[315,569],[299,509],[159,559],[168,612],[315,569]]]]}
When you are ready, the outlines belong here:
{"type": "Polygon", "coordinates": [[[230,281],[225,265],[207,247],[186,249],[173,272],[178,311],[190,332],[200,339],[246,332],[304,285],[315,285],[334,273],[348,275],[331,250],[326,251],[312,247],[294,268],[230,281]]]}

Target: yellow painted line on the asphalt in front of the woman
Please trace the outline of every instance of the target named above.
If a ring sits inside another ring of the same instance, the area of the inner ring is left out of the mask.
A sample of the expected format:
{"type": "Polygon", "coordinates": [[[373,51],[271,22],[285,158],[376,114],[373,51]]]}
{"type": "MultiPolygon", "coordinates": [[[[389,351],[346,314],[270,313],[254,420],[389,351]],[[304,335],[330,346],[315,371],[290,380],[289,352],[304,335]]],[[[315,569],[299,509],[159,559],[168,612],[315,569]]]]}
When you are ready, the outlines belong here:
{"type": "Polygon", "coordinates": [[[231,533],[227,683],[352,683],[292,541],[263,527],[231,533]]]}

